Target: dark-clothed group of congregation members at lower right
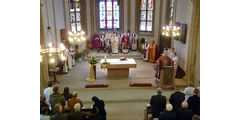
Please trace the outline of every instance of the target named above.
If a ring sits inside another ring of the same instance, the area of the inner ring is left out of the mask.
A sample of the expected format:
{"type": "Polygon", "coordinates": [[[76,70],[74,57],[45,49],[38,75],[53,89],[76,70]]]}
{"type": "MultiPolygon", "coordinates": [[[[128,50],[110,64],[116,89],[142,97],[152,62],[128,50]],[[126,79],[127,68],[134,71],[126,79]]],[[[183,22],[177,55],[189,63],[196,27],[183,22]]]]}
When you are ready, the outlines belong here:
{"type": "Polygon", "coordinates": [[[169,104],[163,90],[157,89],[157,95],[153,95],[150,101],[150,113],[154,120],[199,120],[200,97],[199,89],[189,87],[181,92],[178,88],[171,94],[169,104]]]}

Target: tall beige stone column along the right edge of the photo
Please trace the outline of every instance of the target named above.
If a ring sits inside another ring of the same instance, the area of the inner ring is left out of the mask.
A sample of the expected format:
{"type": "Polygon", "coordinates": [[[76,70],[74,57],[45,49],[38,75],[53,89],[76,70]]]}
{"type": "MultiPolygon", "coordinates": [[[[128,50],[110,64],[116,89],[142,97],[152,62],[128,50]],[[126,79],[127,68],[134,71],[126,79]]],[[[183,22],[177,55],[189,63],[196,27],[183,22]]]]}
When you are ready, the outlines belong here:
{"type": "Polygon", "coordinates": [[[193,0],[186,80],[200,85],[200,0],[193,0]]]}

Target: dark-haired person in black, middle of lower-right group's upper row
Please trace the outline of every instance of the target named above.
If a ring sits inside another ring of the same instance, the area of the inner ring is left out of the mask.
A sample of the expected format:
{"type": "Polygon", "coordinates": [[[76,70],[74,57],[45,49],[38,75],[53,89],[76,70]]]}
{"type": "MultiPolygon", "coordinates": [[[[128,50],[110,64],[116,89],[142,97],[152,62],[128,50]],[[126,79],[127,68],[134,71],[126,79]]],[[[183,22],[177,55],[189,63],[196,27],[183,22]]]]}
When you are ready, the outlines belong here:
{"type": "Polygon", "coordinates": [[[173,106],[173,111],[182,108],[182,102],[185,100],[185,94],[180,91],[180,89],[175,88],[175,92],[171,94],[169,103],[173,106]]]}

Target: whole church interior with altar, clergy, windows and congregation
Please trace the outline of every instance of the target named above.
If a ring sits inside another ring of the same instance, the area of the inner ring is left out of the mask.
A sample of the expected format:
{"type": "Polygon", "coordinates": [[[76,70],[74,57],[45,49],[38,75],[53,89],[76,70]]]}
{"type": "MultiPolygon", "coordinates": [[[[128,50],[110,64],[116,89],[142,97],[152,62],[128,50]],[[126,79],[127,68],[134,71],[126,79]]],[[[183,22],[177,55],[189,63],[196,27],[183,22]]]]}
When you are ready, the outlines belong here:
{"type": "Polygon", "coordinates": [[[41,120],[198,120],[200,0],[40,0],[40,61],[41,120]]]}

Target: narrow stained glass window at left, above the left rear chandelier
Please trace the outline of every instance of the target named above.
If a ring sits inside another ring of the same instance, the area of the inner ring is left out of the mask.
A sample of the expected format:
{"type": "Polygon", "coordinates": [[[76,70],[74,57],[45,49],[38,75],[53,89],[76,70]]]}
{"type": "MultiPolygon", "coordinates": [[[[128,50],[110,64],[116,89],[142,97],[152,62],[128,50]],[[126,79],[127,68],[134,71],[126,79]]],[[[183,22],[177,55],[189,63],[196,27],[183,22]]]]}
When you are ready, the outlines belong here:
{"type": "Polygon", "coordinates": [[[79,0],[69,0],[70,5],[70,25],[72,32],[81,31],[81,15],[79,0]]]}

